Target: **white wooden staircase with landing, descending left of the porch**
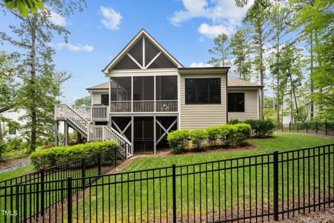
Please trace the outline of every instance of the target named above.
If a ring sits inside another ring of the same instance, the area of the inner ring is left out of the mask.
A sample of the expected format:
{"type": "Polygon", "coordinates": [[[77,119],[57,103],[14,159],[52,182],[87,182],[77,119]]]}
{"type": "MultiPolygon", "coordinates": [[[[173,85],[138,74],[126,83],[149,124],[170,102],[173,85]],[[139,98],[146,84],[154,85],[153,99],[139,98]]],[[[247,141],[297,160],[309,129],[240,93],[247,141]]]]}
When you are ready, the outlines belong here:
{"type": "Polygon", "coordinates": [[[74,130],[80,132],[87,141],[116,141],[122,147],[120,153],[128,159],[133,155],[132,143],[123,137],[119,132],[106,125],[92,125],[84,116],[80,114],[80,110],[74,110],[68,105],[55,105],[54,119],[56,121],[66,121],[74,130]]]}

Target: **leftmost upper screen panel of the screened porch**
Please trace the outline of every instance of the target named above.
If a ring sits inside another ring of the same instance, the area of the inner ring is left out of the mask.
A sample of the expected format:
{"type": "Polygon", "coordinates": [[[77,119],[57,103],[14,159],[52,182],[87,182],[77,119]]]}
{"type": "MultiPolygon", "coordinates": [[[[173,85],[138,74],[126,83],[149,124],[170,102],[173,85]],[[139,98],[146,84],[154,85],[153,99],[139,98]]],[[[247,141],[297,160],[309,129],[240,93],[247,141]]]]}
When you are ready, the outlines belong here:
{"type": "Polygon", "coordinates": [[[111,77],[111,101],[131,100],[131,77],[111,77]]]}

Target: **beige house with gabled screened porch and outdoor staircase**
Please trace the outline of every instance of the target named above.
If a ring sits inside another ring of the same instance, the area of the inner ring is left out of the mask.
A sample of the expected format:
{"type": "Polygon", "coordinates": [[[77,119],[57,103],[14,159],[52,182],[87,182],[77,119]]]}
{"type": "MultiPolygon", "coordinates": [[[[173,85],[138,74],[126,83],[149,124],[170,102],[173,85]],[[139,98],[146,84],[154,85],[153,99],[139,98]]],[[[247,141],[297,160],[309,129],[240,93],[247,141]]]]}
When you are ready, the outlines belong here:
{"type": "MultiPolygon", "coordinates": [[[[58,121],[87,141],[115,140],[122,154],[156,153],[169,132],[259,118],[263,86],[228,77],[229,67],[185,68],[142,29],[102,70],[108,82],[88,88],[90,107],[56,105],[58,121]]],[[[56,144],[67,144],[59,134],[56,144]]]]}

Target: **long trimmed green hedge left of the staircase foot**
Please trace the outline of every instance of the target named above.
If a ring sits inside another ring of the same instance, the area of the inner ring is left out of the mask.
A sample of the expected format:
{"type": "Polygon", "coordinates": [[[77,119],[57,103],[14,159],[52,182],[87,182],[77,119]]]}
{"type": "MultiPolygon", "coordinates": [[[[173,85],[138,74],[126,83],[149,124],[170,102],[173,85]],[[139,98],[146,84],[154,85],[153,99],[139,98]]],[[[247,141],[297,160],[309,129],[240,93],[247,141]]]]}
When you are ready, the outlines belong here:
{"type": "Polygon", "coordinates": [[[39,148],[31,153],[30,159],[33,166],[38,168],[52,167],[66,162],[80,160],[97,153],[107,151],[118,144],[114,141],[97,141],[74,146],[56,146],[51,148],[39,148]]]}

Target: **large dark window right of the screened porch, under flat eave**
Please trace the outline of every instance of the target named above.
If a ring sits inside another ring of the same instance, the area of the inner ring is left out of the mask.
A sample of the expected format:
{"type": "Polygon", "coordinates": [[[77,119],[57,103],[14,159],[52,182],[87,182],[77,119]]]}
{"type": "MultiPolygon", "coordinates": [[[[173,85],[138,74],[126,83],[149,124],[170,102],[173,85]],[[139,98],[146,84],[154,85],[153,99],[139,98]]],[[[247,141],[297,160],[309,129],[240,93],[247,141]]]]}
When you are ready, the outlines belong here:
{"type": "Polygon", "coordinates": [[[186,104],[220,104],[220,78],[186,79],[186,104]]]}

